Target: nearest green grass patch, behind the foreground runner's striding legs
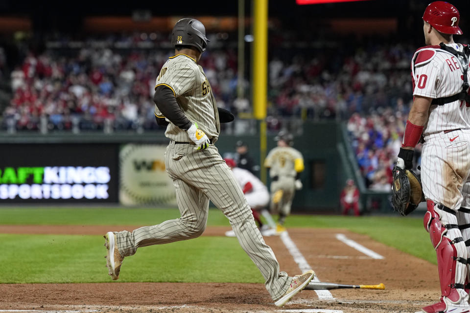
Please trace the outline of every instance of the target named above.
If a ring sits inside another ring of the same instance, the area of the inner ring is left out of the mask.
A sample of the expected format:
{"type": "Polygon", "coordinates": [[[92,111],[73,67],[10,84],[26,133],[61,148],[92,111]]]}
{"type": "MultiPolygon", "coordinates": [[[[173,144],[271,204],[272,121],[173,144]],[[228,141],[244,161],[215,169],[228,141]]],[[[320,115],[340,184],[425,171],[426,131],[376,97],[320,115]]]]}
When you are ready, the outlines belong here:
{"type": "MultiPolygon", "coordinates": [[[[111,281],[101,236],[0,234],[0,242],[0,283],[111,281]]],[[[119,281],[261,283],[263,279],[234,238],[200,237],[139,249],[124,260],[119,281]]]]}

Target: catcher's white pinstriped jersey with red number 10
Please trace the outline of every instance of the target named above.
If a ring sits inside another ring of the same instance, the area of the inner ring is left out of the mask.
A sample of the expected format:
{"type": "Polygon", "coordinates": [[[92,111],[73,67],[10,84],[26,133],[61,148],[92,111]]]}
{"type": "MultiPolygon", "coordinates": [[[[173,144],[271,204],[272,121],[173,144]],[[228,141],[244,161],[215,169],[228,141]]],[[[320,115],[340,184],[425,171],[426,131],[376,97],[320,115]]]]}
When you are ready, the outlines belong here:
{"type": "MultiPolygon", "coordinates": [[[[458,51],[461,44],[447,45],[458,51]]],[[[442,98],[462,91],[463,69],[460,61],[439,46],[423,47],[413,56],[413,96],[442,98]]],[[[470,82],[470,71],[467,72],[470,82]]],[[[441,106],[431,105],[429,119],[423,134],[439,133],[452,129],[470,129],[470,103],[454,101],[441,106]]]]}

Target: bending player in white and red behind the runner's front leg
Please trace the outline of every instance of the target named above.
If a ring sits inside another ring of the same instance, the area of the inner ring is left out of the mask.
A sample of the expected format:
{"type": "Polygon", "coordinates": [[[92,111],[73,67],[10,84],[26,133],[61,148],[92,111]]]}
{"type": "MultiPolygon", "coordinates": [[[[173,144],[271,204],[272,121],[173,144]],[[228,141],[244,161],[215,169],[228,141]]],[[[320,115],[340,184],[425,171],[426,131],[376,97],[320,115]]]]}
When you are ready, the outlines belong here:
{"type": "MultiPolygon", "coordinates": [[[[261,235],[270,236],[275,234],[274,230],[276,229],[276,223],[274,223],[271,214],[269,214],[269,212],[265,209],[269,203],[268,188],[266,188],[262,181],[253,175],[250,171],[237,167],[234,159],[227,157],[224,158],[224,161],[230,167],[236,181],[238,181],[238,184],[241,186],[243,194],[245,194],[246,201],[251,207],[253,217],[255,218],[255,221],[258,222],[261,235]],[[261,214],[264,216],[269,225],[263,225],[258,211],[261,211],[261,214]]],[[[225,232],[225,236],[235,237],[235,232],[233,230],[229,230],[225,232]]]]}

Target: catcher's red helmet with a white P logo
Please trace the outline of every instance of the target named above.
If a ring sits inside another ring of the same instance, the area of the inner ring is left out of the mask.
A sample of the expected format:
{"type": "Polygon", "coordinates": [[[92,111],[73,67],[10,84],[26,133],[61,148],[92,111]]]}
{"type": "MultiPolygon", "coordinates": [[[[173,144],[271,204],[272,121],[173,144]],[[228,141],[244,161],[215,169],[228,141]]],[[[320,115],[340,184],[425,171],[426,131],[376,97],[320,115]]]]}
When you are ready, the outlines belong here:
{"type": "Polygon", "coordinates": [[[459,27],[460,13],[455,6],[446,1],[429,3],[423,14],[424,22],[428,22],[444,34],[462,35],[459,27]]]}

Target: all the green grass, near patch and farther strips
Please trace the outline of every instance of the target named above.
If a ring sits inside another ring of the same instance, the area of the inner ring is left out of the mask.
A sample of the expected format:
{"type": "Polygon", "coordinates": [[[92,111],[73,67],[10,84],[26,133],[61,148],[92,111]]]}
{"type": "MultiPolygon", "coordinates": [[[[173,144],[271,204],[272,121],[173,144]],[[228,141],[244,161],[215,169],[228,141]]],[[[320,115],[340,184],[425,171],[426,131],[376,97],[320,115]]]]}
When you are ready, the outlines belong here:
{"type": "MultiPolygon", "coordinates": [[[[0,208],[0,224],[145,225],[179,216],[176,209],[0,208]]],[[[228,220],[211,209],[208,225],[228,220]]],[[[436,263],[422,218],[293,215],[286,227],[344,228],[436,263]]],[[[0,234],[0,282],[107,282],[101,236],[0,234]]],[[[139,249],[119,281],[261,282],[233,238],[200,237],[139,249]],[[188,253],[189,251],[189,253],[188,253]],[[241,276],[239,273],[243,272],[241,276]]]]}

